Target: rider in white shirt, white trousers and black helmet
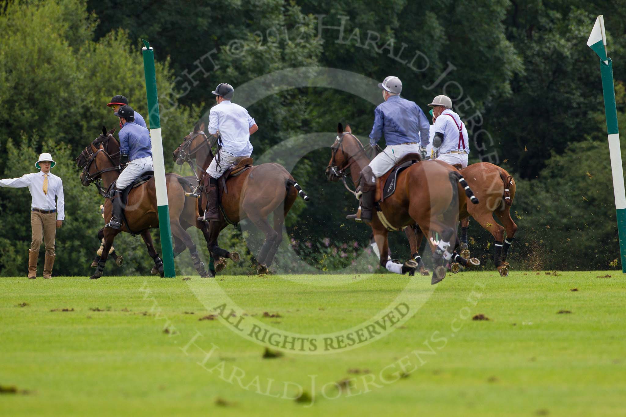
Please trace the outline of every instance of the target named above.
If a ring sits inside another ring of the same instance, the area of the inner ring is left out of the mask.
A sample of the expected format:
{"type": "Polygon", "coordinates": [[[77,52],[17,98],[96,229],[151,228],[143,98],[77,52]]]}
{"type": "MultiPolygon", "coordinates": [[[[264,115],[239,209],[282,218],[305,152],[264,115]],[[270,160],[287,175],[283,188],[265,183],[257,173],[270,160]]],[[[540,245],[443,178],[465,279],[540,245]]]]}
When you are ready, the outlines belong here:
{"type": "Polygon", "coordinates": [[[208,133],[218,138],[220,150],[205,174],[209,179],[206,190],[207,208],[204,215],[198,217],[200,221],[220,220],[217,180],[229,166],[239,163],[244,158],[250,158],[252,154],[250,135],[259,130],[259,126],[248,111],[230,101],[235,94],[235,89],[230,84],[218,84],[211,93],[215,94],[217,105],[211,108],[208,116],[208,133]]]}

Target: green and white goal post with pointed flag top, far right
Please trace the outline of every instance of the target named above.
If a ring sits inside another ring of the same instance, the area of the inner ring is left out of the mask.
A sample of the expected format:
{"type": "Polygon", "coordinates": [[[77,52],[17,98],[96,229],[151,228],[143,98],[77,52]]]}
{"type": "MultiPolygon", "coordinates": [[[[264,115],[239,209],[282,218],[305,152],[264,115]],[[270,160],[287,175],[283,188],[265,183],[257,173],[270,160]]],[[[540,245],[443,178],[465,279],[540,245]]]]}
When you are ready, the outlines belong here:
{"type": "Polygon", "coordinates": [[[622,273],[626,273],[626,192],[624,191],[620,134],[617,126],[613,63],[607,54],[607,35],[604,31],[604,17],[602,14],[595,20],[587,46],[593,49],[600,57],[604,112],[607,118],[608,151],[611,158],[613,194],[615,195],[615,209],[617,211],[617,234],[620,240],[620,259],[622,261],[622,273]]]}

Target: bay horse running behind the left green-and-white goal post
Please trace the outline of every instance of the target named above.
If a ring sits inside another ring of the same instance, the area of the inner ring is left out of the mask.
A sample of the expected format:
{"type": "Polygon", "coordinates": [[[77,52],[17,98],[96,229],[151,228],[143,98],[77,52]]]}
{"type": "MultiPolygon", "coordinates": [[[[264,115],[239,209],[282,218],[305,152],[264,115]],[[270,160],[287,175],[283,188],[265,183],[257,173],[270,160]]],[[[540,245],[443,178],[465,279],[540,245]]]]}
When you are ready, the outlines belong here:
{"type": "MultiPolygon", "coordinates": [[[[105,136],[106,139],[111,142],[109,139],[112,137],[112,133],[112,131],[107,133],[106,129],[103,129],[101,136],[105,136]]],[[[100,139],[100,137],[98,139],[100,139]]],[[[96,141],[98,139],[96,139],[96,141]]],[[[89,186],[91,183],[96,183],[99,190],[106,190],[106,195],[110,193],[111,186],[120,175],[119,162],[115,163],[110,154],[105,151],[103,144],[100,144],[100,147],[96,148],[96,146],[91,143],[90,148],[91,154],[89,154],[89,156],[86,156],[88,151],[83,151],[83,153],[76,158],[78,168],[83,168],[83,172],[80,174],[81,184],[83,184],[83,186],[89,186]]],[[[202,261],[200,261],[200,256],[198,255],[191,236],[186,231],[187,228],[196,223],[195,213],[197,212],[197,201],[195,201],[195,199],[193,199],[193,202],[186,201],[185,192],[191,190],[186,179],[177,174],[166,174],[165,178],[168,191],[172,236],[189,249],[193,266],[200,276],[207,278],[209,274],[205,270],[202,261]]],[[[104,206],[105,221],[108,223],[112,217],[111,200],[107,198],[104,206]]],[[[163,276],[163,261],[160,259],[160,256],[158,256],[158,253],[156,253],[149,231],[151,228],[158,228],[158,225],[155,180],[154,178],[150,178],[145,183],[131,189],[128,193],[128,201],[125,207],[125,221],[122,228],[120,230],[113,228],[104,229],[104,248],[100,261],[98,261],[96,271],[90,279],[98,279],[103,275],[106,259],[113,245],[113,240],[115,236],[122,231],[132,234],[141,234],[148,248],[150,257],[153,258],[156,268],[163,276]]]]}

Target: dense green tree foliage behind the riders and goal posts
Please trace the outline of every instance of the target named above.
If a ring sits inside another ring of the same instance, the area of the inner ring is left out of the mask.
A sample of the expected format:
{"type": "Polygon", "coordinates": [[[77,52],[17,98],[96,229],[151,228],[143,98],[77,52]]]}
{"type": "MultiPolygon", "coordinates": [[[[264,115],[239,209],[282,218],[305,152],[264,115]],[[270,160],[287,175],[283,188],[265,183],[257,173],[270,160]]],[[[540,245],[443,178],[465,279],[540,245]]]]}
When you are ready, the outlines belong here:
{"type": "MultiPolygon", "coordinates": [[[[80,185],[74,157],[101,126],[117,127],[105,106],[111,96],[126,95],[148,119],[141,38],[155,48],[168,170],[175,168],[170,152],[207,119],[210,91],[232,84],[235,102],[245,103],[260,127],[253,156],[297,162],[292,174],[312,201],[297,201],[287,233],[296,253],[319,269],[345,266],[369,241],[369,229],[344,221],[357,202],[341,184],[327,183],[324,168],[337,122],[368,141],[382,100],[371,83],[390,74],[424,111],[434,96],[451,96],[470,132],[471,162],[492,161],[515,176],[517,266],[607,268],[617,258],[598,59],[585,42],[595,16],[604,14],[626,126],[623,4],[136,0],[127,8],[117,0],[9,1],[0,8],[0,173],[31,172],[41,151],[59,161],[68,220],[58,234],[58,273],[87,274],[102,223],[101,198],[80,185]],[[347,73],[313,77],[314,68],[347,73]],[[287,148],[300,135],[324,132],[287,148]],[[344,259],[348,242],[354,250],[344,259]],[[324,260],[333,256],[339,259],[324,260]]],[[[24,269],[28,204],[28,191],[0,189],[0,274],[24,269]]],[[[254,251],[242,229],[228,228],[223,244],[245,251],[247,239],[254,251]]],[[[487,261],[491,236],[476,223],[470,230],[475,253],[487,261]]],[[[403,233],[391,234],[391,245],[394,256],[408,255],[403,233]]],[[[143,243],[125,236],[116,246],[127,254],[124,273],[148,272],[143,243]]],[[[294,264],[293,251],[279,254],[294,264]]]]}

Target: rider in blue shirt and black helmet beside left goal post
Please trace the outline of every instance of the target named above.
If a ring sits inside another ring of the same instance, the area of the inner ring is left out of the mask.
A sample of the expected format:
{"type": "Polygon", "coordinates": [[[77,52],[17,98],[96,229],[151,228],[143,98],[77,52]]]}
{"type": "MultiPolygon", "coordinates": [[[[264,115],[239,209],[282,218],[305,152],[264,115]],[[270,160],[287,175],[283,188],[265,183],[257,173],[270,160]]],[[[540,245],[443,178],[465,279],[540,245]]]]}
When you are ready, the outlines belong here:
{"type": "Polygon", "coordinates": [[[113,203],[113,217],[105,227],[121,229],[121,219],[124,211],[124,203],[121,194],[126,187],[139,178],[146,171],[152,171],[152,144],[150,131],[134,123],[135,111],[130,106],[121,106],[115,112],[120,118],[122,128],[120,130],[120,167],[126,163],[126,168],[118,177],[115,188],[111,190],[111,203],[113,203]]]}

